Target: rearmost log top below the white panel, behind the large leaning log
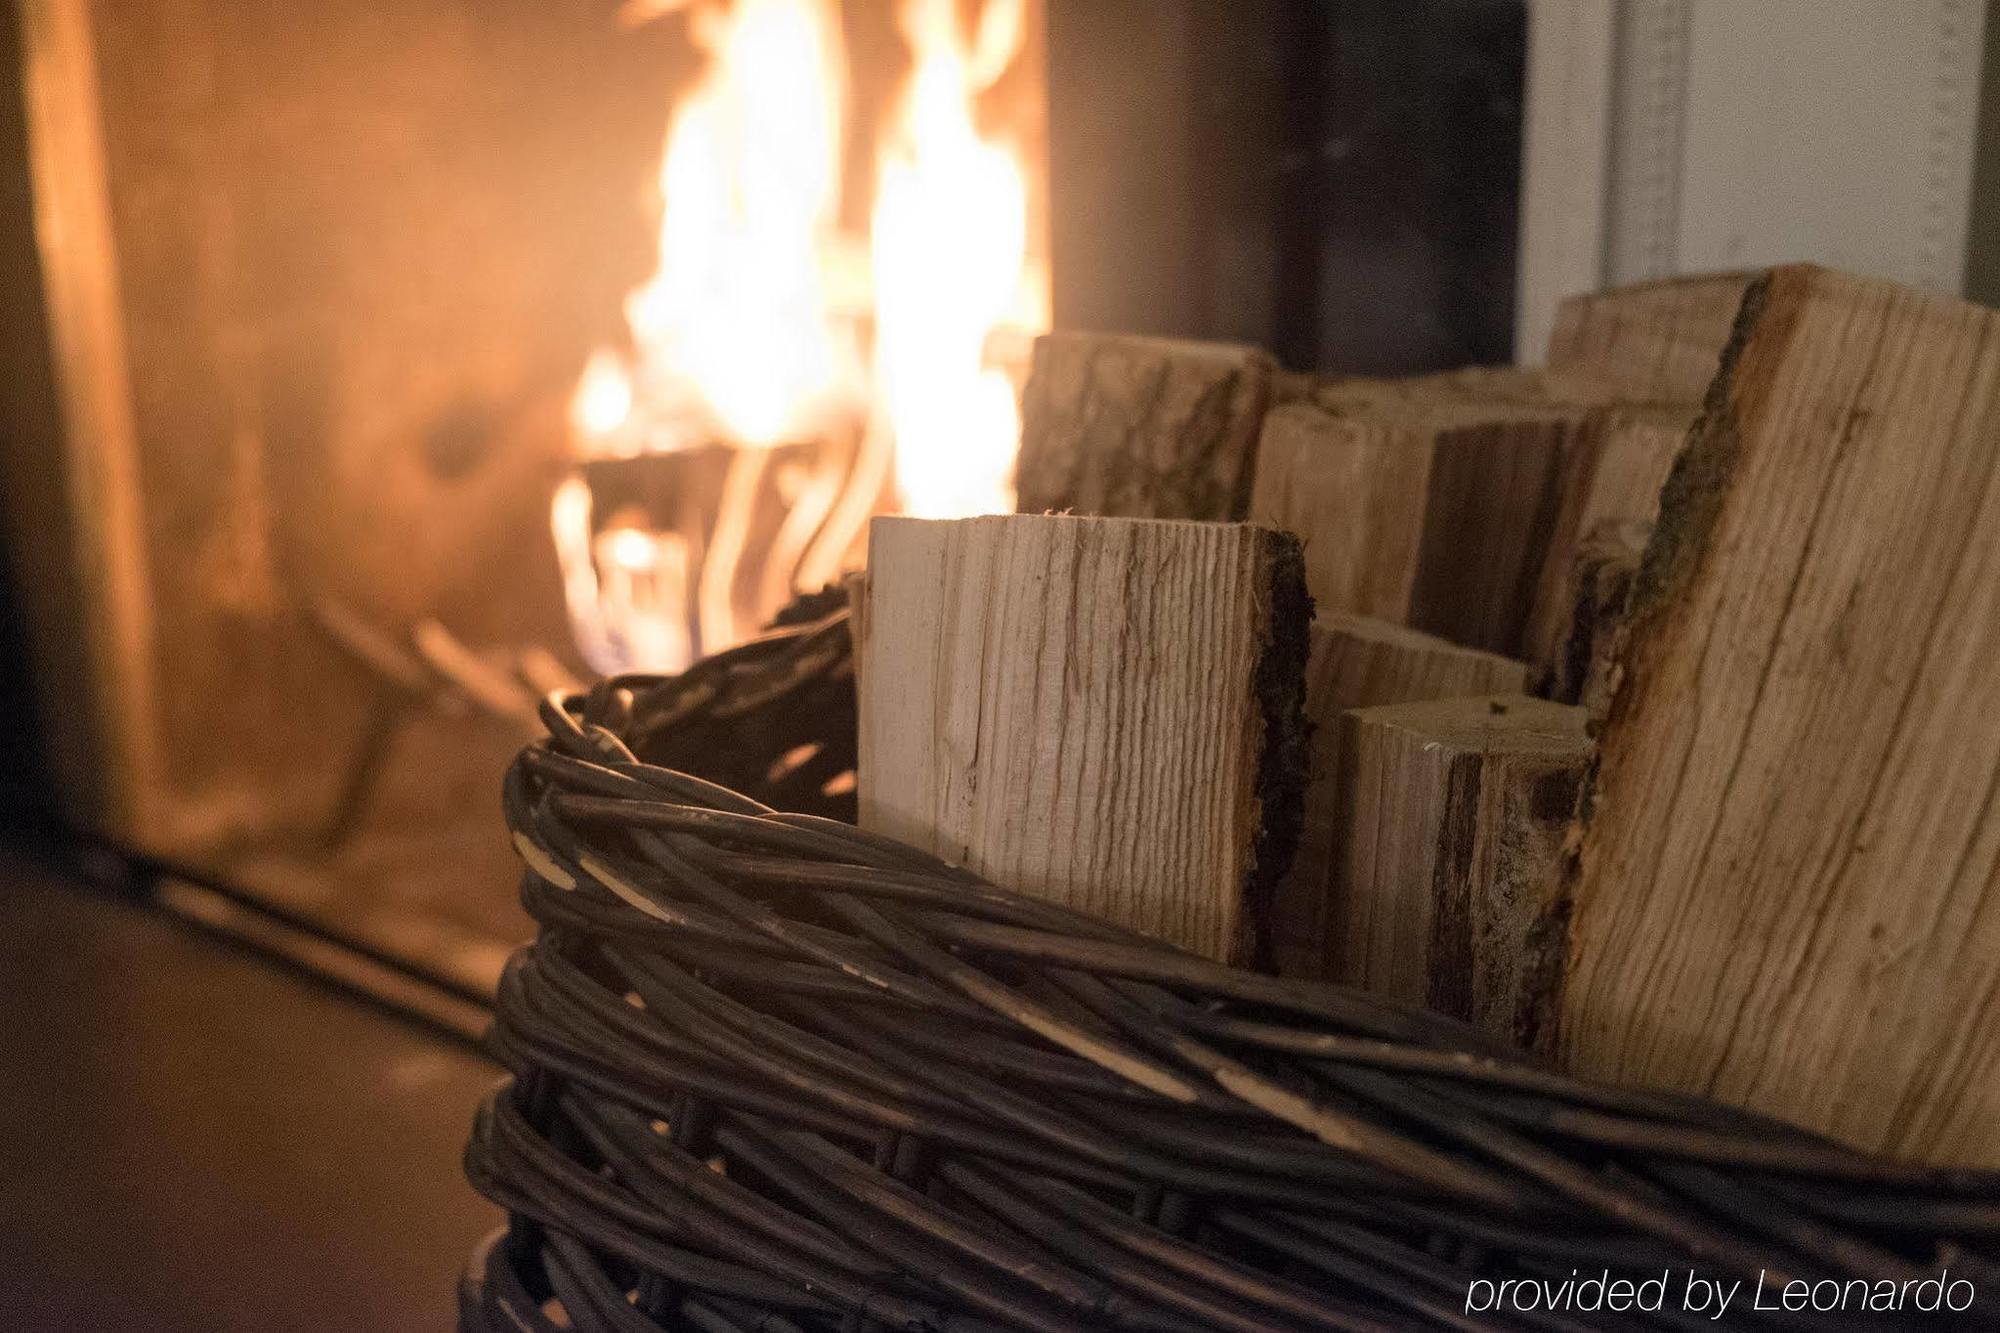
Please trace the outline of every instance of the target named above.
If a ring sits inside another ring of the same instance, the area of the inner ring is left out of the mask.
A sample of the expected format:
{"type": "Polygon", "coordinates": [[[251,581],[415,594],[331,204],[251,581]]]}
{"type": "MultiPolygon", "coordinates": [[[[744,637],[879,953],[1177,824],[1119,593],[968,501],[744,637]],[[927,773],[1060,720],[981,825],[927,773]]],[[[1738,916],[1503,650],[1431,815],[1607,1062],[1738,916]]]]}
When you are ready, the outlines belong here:
{"type": "Polygon", "coordinates": [[[1570,296],[1548,368],[1590,372],[1648,402],[1700,402],[1754,274],[1718,272],[1570,296]]]}

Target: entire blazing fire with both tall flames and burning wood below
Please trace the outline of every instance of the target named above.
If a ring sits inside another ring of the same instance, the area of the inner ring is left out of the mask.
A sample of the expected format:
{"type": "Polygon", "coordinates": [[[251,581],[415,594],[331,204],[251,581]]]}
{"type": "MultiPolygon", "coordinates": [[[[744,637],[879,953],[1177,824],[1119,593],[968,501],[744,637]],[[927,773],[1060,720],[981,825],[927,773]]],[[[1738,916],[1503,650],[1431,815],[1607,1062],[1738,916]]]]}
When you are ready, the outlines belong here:
{"type": "Polygon", "coordinates": [[[984,0],[968,32],[960,0],[898,0],[912,72],[876,146],[866,240],[838,232],[836,0],[628,4],[634,20],[684,14],[706,66],[668,126],[660,258],[626,300],[630,350],[590,358],[572,434],[588,458],[738,452],[702,530],[648,532],[630,506],[594,520],[580,478],[556,496],[572,624],[600,671],[676,671],[824,582],[884,502],[890,448],[908,512],[1012,508],[1020,420],[988,342],[1040,328],[1046,298],[1024,278],[1026,172],[974,112],[1022,48],[1024,2],[984,0]],[[846,440],[844,462],[768,464],[814,440],[846,440]],[[782,520],[756,518],[770,504],[782,520]]]}

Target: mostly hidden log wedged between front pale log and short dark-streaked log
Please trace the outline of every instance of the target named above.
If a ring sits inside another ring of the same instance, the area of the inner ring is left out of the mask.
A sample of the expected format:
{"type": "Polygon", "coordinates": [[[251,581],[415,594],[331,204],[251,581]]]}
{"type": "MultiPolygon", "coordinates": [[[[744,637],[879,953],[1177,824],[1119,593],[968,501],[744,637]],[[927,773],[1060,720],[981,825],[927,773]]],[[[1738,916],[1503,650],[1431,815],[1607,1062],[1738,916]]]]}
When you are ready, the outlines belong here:
{"type": "Polygon", "coordinates": [[[1518,695],[1526,685],[1528,669],[1522,662],[1460,648],[1402,624],[1342,612],[1326,612],[1312,622],[1312,656],[1306,662],[1306,721],[1312,725],[1306,823],[1298,855],[1278,881],[1272,903],[1280,973],[1326,975],[1326,899],[1332,891],[1334,821],[1340,813],[1340,715],[1454,695],[1518,695]]]}

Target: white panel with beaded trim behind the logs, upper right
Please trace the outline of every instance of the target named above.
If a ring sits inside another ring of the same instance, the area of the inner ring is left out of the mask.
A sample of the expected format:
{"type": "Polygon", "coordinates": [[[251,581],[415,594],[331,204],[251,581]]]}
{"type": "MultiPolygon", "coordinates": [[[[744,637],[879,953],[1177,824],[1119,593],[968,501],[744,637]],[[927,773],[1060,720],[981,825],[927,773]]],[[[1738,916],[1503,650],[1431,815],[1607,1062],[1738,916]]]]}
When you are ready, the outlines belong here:
{"type": "Polygon", "coordinates": [[[1520,360],[1584,286],[1816,260],[1962,290],[1984,0],[1530,6],[1520,360]],[[1598,84],[1592,132],[1568,90],[1598,84]]]}

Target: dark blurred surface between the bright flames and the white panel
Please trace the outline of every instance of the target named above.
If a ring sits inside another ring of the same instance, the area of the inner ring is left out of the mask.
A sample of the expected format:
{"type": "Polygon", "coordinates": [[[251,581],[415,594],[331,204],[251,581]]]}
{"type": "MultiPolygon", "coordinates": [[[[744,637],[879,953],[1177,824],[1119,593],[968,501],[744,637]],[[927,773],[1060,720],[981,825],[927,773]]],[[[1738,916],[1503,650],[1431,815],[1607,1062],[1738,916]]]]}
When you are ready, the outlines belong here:
{"type": "Polygon", "coordinates": [[[1512,360],[1522,0],[1050,0],[1056,322],[1512,360]]]}

